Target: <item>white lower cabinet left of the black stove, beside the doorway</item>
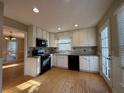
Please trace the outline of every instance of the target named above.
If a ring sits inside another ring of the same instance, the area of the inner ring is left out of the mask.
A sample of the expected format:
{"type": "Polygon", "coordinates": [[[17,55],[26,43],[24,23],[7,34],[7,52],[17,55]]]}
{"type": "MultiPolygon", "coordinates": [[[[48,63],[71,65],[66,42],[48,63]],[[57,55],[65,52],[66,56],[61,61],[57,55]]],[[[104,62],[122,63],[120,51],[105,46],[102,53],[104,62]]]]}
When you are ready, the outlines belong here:
{"type": "Polygon", "coordinates": [[[40,57],[29,57],[25,62],[25,75],[37,76],[40,74],[40,57]]]}

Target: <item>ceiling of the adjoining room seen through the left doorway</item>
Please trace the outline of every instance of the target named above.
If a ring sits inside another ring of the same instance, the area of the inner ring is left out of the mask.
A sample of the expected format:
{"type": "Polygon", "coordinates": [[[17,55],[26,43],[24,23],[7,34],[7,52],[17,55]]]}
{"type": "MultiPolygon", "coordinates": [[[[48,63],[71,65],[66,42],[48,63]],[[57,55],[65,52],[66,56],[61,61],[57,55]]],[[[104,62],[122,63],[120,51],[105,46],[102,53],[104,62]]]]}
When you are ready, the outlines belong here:
{"type": "Polygon", "coordinates": [[[11,28],[11,27],[3,27],[3,35],[4,36],[10,36],[12,35],[13,37],[18,37],[18,38],[24,38],[24,32],[19,31],[17,29],[11,28]],[[10,34],[12,32],[12,34],[10,34]]]}

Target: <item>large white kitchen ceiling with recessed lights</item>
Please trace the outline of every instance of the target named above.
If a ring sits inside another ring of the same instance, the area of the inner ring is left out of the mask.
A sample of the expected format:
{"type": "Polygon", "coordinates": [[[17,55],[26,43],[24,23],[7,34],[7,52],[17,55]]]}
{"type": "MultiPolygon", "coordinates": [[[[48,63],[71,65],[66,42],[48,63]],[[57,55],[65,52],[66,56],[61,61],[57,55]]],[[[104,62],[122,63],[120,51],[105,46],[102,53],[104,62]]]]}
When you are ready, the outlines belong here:
{"type": "Polygon", "coordinates": [[[113,0],[4,0],[4,16],[49,32],[96,26],[113,0]],[[33,7],[40,13],[35,14],[33,7]],[[75,28],[74,24],[79,27],[75,28]]]}

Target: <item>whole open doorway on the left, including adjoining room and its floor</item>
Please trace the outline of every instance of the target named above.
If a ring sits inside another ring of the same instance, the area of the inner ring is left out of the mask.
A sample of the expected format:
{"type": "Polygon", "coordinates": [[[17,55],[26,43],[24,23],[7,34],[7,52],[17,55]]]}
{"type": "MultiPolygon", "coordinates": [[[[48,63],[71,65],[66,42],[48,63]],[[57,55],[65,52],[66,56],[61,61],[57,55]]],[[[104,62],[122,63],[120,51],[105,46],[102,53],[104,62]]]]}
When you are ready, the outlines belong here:
{"type": "Polygon", "coordinates": [[[4,27],[3,31],[3,91],[9,93],[15,87],[31,77],[24,75],[26,58],[26,34],[11,27],[4,27]]]}

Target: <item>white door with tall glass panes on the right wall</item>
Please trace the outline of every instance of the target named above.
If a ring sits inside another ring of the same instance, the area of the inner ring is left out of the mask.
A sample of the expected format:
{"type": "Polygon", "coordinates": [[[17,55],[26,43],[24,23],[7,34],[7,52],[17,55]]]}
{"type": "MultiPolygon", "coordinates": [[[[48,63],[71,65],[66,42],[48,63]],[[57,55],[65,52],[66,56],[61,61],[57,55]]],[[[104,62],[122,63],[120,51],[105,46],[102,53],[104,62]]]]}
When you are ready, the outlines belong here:
{"type": "Polygon", "coordinates": [[[111,44],[109,33],[109,26],[106,25],[101,32],[101,61],[102,73],[108,80],[111,79],[111,44]]]}

